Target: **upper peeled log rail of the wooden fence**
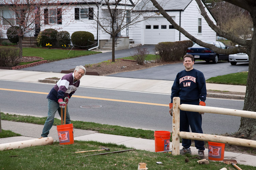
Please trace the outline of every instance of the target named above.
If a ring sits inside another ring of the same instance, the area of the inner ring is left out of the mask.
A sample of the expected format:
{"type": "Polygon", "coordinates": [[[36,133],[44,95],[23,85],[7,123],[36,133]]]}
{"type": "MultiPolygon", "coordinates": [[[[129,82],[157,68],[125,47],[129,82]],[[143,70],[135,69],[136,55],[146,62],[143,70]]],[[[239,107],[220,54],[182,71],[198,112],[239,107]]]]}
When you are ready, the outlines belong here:
{"type": "Polygon", "coordinates": [[[232,116],[256,118],[255,112],[242,111],[242,110],[230,109],[230,108],[198,106],[198,105],[191,105],[191,104],[181,104],[179,105],[179,108],[182,111],[215,113],[215,114],[221,114],[221,115],[232,115],[232,116]]]}

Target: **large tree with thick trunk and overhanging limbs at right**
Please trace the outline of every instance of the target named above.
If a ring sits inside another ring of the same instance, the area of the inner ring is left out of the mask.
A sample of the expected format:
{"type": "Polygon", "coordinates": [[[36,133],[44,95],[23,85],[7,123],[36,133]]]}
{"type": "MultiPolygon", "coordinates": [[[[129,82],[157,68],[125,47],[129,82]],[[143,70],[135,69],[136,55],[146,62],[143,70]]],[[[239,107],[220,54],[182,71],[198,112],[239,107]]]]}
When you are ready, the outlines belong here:
{"type": "MultiPolygon", "coordinates": [[[[231,3],[233,5],[239,6],[243,8],[244,10],[247,10],[249,14],[252,16],[253,21],[253,35],[251,40],[242,39],[240,37],[237,37],[236,35],[230,34],[224,30],[221,30],[219,27],[217,27],[209,18],[207,15],[207,12],[205,11],[205,6],[202,4],[201,0],[196,0],[201,15],[204,17],[204,19],[207,21],[209,26],[220,36],[225,37],[240,46],[232,49],[219,49],[215,47],[214,45],[210,45],[207,43],[203,43],[202,41],[198,40],[194,36],[190,35],[188,32],[186,32],[183,28],[181,28],[179,25],[177,25],[172,18],[166,13],[165,10],[158,4],[156,0],[151,0],[151,2],[154,4],[154,6],[159,10],[159,12],[165,17],[176,30],[179,30],[181,33],[183,33],[186,37],[194,41],[195,43],[199,44],[200,46],[210,48],[217,53],[223,53],[223,54],[236,54],[239,52],[245,52],[249,56],[249,71],[248,71],[248,78],[246,83],[246,94],[244,99],[244,107],[243,110],[246,111],[254,111],[256,112],[256,3],[255,0],[225,0],[228,3],[231,3]]],[[[241,23],[243,24],[243,23],[241,23]]],[[[241,118],[241,124],[240,128],[237,132],[237,136],[256,140],[256,119],[252,118],[241,118]]]]}

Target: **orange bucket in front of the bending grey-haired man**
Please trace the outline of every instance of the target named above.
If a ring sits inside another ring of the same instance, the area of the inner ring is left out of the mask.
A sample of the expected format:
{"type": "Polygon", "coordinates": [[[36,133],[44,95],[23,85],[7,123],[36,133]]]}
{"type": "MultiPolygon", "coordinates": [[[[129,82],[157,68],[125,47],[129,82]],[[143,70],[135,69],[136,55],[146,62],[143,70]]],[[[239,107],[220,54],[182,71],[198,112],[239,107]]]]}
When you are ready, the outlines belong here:
{"type": "Polygon", "coordinates": [[[69,145],[74,143],[73,128],[73,123],[57,125],[60,145],[69,145]]]}

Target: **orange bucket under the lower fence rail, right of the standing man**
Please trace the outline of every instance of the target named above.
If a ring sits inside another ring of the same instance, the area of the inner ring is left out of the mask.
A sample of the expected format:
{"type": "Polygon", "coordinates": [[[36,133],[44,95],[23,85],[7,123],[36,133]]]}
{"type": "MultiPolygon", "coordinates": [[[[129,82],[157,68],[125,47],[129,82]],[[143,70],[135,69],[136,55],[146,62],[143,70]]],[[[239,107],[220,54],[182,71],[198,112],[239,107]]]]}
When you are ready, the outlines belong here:
{"type": "Polygon", "coordinates": [[[224,159],[225,143],[208,142],[208,158],[210,160],[224,159]]]}

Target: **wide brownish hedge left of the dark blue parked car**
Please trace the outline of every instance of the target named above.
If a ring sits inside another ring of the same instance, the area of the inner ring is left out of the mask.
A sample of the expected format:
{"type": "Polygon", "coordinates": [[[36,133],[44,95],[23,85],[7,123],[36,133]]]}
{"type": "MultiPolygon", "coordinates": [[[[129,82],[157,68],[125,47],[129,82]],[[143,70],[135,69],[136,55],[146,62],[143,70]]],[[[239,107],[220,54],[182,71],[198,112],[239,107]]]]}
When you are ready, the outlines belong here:
{"type": "Polygon", "coordinates": [[[156,45],[155,51],[162,61],[180,61],[187,53],[187,48],[192,46],[193,42],[191,40],[162,42],[156,45]]]}

